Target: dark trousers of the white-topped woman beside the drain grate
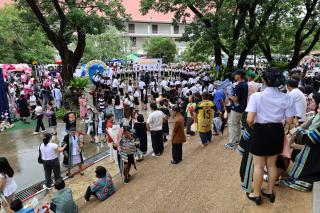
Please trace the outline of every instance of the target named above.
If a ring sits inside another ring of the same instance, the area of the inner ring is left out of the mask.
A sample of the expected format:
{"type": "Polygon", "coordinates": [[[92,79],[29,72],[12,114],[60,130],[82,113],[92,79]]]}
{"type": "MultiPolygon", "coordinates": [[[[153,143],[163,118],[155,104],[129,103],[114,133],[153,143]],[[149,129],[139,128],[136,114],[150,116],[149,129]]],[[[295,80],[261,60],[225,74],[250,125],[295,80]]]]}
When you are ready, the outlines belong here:
{"type": "Polygon", "coordinates": [[[51,174],[53,172],[54,180],[57,181],[61,178],[61,171],[60,171],[60,163],[59,159],[52,159],[52,160],[44,160],[43,161],[43,168],[44,168],[44,175],[45,175],[45,184],[46,187],[51,187],[52,179],[51,174]]]}

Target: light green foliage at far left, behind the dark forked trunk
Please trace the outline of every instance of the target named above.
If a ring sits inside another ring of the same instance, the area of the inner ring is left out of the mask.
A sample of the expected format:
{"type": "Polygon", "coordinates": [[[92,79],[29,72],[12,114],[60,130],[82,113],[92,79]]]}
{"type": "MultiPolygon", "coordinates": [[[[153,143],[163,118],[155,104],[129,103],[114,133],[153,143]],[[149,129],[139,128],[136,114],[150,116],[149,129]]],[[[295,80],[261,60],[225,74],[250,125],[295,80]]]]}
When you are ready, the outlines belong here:
{"type": "Polygon", "coordinates": [[[24,21],[12,5],[0,8],[0,64],[52,63],[54,48],[36,25],[24,21]]]}

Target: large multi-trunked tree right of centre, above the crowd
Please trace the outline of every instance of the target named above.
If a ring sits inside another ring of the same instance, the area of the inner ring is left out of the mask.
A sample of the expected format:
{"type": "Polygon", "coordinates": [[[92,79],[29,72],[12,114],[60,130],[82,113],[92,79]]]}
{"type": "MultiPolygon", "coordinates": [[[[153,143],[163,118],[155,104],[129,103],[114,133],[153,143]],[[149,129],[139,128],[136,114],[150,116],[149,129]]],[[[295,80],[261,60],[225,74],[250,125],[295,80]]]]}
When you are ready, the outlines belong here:
{"type": "Polygon", "coordinates": [[[240,54],[237,66],[244,65],[273,11],[282,1],[285,0],[142,0],[141,11],[175,12],[175,21],[178,22],[194,15],[187,37],[193,41],[205,38],[214,48],[217,65],[222,65],[222,51],[226,53],[227,69],[230,70],[236,53],[240,54]]]}

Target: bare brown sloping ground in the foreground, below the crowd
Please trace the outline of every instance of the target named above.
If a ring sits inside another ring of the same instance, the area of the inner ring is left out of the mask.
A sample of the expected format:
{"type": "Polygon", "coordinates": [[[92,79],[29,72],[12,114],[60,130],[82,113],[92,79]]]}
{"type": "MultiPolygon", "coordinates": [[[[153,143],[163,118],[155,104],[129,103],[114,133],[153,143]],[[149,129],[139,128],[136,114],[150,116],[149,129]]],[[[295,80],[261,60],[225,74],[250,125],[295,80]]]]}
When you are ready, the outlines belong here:
{"type": "Polygon", "coordinates": [[[284,186],[276,188],[276,202],[265,198],[261,206],[249,201],[240,187],[240,156],[224,148],[226,136],[215,137],[207,147],[192,137],[183,146],[183,161],[171,165],[171,145],[160,158],[148,156],[132,170],[124,185],[114,178],[117,192],[108,200],[88,203],[80,198],[80,212],[311,212],[312,193],[284,186]]]}

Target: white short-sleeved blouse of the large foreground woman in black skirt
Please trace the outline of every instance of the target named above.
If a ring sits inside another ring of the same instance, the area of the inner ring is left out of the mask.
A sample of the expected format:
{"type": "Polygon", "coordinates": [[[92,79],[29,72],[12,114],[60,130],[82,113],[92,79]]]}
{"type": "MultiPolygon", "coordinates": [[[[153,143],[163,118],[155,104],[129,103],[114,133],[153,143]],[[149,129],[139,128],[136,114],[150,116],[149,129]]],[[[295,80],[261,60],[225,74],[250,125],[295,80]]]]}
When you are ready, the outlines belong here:
{"type": "Polygon", "coordinates": [[[278,88],[267,87],[251,95],[247,112],[255,112],[255,123],[282,123],[296,114],[293,99],[278,88]]]}

